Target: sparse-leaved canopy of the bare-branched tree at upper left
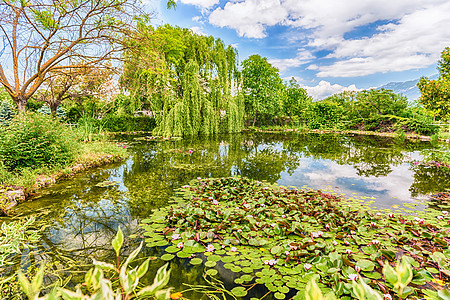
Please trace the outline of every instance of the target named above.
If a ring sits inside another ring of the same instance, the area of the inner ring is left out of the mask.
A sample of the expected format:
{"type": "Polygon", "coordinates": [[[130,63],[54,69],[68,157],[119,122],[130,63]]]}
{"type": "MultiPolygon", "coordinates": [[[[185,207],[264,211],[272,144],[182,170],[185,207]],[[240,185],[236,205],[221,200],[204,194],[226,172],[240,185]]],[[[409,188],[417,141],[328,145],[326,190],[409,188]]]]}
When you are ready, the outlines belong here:
{"type": "Polygon", "coordinates": [[[0,11],[0,84],[22,111],[50,73],[114,57],[140,14],[135,0],[3,0],[0,11]]]}

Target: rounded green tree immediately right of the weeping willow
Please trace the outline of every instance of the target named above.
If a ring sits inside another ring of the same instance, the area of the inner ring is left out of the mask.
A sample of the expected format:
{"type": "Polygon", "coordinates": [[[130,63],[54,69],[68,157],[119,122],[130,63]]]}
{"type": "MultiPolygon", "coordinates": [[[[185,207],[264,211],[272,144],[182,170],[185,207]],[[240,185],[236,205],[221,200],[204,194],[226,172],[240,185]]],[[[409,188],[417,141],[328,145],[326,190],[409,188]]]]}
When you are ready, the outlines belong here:
{"type": "MultiPolygon", "coordinates": [[[[273,67],[267,58],[259,55],[251,55],[241,65],[247,117],[253,126],[270,124],[282,113],[285,97],[284,84],[278,69],[273,67]]],[[[291,97],[287,102],[298,100],[298,95],[293,91],[297,87],[291,88],[291,97]]],[[[301,99],[303,100],[303,97],[301,99]]]]}

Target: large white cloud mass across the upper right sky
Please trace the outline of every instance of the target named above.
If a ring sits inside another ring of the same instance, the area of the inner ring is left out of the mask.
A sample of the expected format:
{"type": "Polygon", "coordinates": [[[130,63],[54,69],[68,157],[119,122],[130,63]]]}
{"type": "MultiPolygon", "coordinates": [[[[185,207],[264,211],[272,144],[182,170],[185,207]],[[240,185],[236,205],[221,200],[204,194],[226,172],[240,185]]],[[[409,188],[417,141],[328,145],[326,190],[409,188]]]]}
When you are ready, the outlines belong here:
{"type": "MultiPolygon", "coordinates": [[[[303,47],[331,52],[330,60],[317,62],[309,70],[318,71],[320,77],[353,77],[434,64],[450,42],[449,15],[448,0],[241,0],[214,9],[209,22],[248,38],[264,38],[266,29],[275,25],[300,30],[308,34],[302,37],[303,47]],[[387,24],[379,26],[376,34],[344,38],[377,21],[387,24]]],[[[271,62],[285,70],[303,60],[274,58],[271,62]]]]}

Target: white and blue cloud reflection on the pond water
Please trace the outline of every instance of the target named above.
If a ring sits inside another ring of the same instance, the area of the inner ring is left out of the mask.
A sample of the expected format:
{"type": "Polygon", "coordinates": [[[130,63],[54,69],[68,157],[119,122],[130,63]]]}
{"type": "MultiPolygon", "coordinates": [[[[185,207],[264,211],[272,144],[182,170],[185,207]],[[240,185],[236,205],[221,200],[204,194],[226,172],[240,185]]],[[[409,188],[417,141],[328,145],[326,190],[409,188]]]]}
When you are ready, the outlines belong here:
{"type": "Polygon", "coordinates": [[[351,165],[339,165],[331,160],[302,159],[300,167],[289,176],[283,173],[280,185],[301,187],[306,185],[313,189],[327,187],[347,197],[375,197],[375,206],[388,207],[404,202],[414,202],[409,187],[413,183],[413,175],[409,164],[391,166],[392,172],[387,176],[361,177],[351,165]],[[356,195],[352,193],[357,193],[356,195]]]}

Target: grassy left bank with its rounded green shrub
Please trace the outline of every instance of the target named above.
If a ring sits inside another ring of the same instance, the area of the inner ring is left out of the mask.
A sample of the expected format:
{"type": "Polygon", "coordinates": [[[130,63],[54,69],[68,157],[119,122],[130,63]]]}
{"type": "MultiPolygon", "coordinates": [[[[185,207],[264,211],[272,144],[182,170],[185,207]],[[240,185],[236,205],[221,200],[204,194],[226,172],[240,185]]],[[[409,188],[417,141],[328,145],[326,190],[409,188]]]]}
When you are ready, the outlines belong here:
{"type": "MultiPolygon", "coordinates": [[[[127,156],[125,145],[97,138],[39,114],[16,116],[0,126],[0,189],[30,192],[60,178],[127,156]]],[[[23,197],[21,197],[23,198],[23,197]]]]}

